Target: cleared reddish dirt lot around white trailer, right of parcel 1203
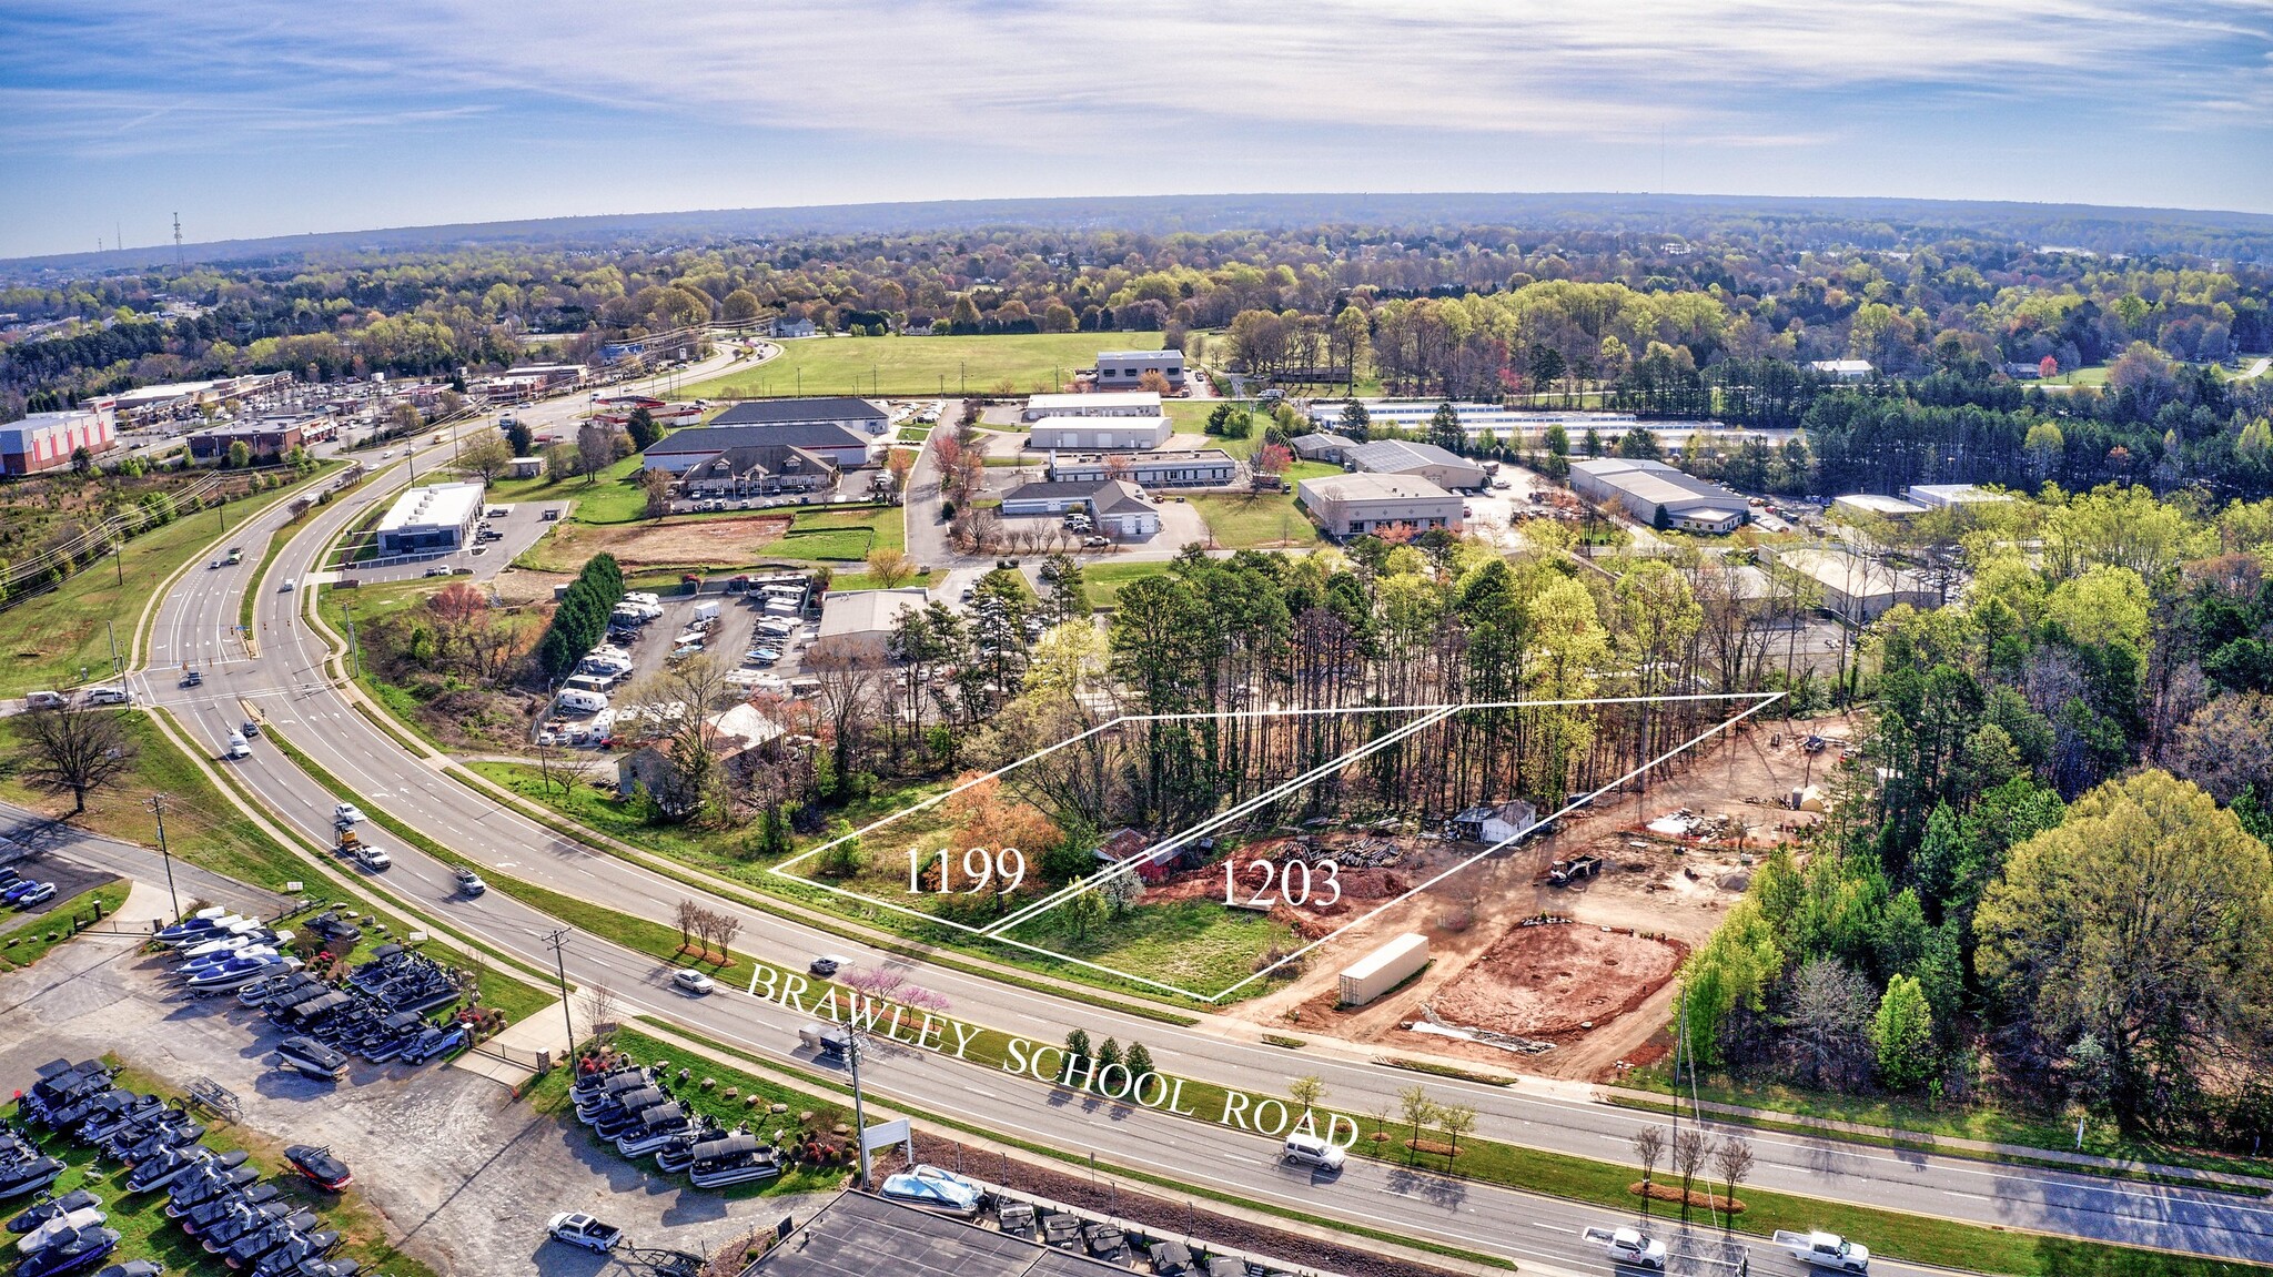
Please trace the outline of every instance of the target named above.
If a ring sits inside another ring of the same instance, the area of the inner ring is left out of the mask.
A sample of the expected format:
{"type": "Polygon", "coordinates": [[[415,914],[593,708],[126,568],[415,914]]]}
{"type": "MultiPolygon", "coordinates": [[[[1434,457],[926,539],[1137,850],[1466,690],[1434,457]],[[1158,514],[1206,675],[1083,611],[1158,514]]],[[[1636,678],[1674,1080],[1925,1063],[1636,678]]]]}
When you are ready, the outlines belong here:
{"type": "MultiPolygon", "coordinates": [[[[1743,895],[1750,866],[1771,843],[1793,838],[1821,816],[1791,811],[1782,798],[1823,782],[1857,723],[1818,718],[1789,729],[1780,720],[1734,738],[1643,795],[1566,816],[1541,838],[1484,857],[1437,886],[1384,909],[1312,954],[1287,986],[1239,1004],[1237,1013],[1268,1027],[1332,1036],[1489,1063],[1507,1070],[1609,1079],[1621,1063],[1641,1063],[1671,1016],[1673,975],[1682,957],[1712,936],[1725,909],[1743,895]],[[1807,752],[1802,738],[1827,745],[1807,752]],[[1655,820],[1687,813],[1698,834],[1650,832],[1655,820]],[[1702,836],[1700,836],[1702,834],[1702,836]],[[1602,857],[1600,877],[1550,886],[1555,859],[1602,857]],[[1523,927],[1541,913],[1577,925],[1523,927]],[[1339,973],[1405,932],[1430,938],[1430,968],[1402,988],[1359,1009],[1339,1009],[1339,973]],[[1475,1025],[1552,1050],[1521,1054],[1441,1034],[1416,1034],[1423,1004],[1441,1020],[1475,1025]],[[1584,1025],[1593,1027],[1587,1029],[1584,1025]]],[[[1343,870],[1357,893],[1355,913],[1393,898],[1398,882],[1427,882],[1473,848],[1414,841],[1391,868],[1343,870]]],[[[1202,875],[1205,877],[1205,875],[1202,875]]],[[[1214,875],[1221,891],[1221,870],[1214,875]]],[[[1400,888],[1398,888],[1400,891],[1400,888]]],[[[1305,934],[1348,923],[1350,911],[1280,913],[1305,934]]]]}

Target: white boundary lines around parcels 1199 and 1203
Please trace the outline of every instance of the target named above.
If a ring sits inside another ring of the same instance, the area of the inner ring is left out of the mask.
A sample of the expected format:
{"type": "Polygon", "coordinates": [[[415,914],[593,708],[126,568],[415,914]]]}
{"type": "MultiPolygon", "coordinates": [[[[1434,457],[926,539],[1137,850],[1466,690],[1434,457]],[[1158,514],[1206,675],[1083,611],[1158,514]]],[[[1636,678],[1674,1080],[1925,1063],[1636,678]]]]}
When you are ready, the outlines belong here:
{"type": "Polygon", "coordinates": [[[1718,736],[1721,732],[1725,732],[1725,729],[1743,723],[1746,718],[1759,713],[1762,709],[1775,704],[1782,698],[1784,698],[1784,693],[1780,693],[1780,691],[1766,691],[1766,693],[1732,691],[1732,693],[1693,693],[1693,695],[1605,695],[1605,698],[1582,698],[1582,700],[1489,700],[1489,702],[1466,702],[1466,704],[1366,704],[1366,707],[1348,707],[1348,709],[1230,709],[1230,711],[1221,711],[1221,713],[1123,713],[1123,716],[1116,716],[1116,718],[1111,718],[1107,723],[1100,723],[1100,725],[1096,725],[1096,727],[1091,727],[1086,732],[1068,736],[1068,738],[1064,738],[1064,741],[1059,741],[1055,745],[1046,745],[1041,750],[1034,750],[1032,754],[1027,754],[1027,757],[1023,757],[1023,759],[1018,759],[1014,763],[1007,763],[1007,766],[996,768],[996,770],[991,770],[986,775],[966,779],[964,784],[957,784],[957,786],[952,786],[948,791],[934,793],[932,798],[925,798],[923,802],[916,802],[914,807],[902,807],[900,811],[893,811],[891,816],[871,820],[868,825],[861,825],[859,829],[855,829],[850,834],[843,834],[839,838],[830,838],[827,843],[821,843],[818,848],[814,848],[809,852],[802,852],[798,857],[791,857],[791,859],[773,866],[768,873],[775,873],[780,877],[786,877],[789,882],[798,882],[798,884],[805,884],[805,886],[818,886],[821,891],[827,891],[832,895],[841,895],[846,900],[859,900],[861,904],[875,904],[877,909],[891,909],[896,913],[907,913],[909,918],[921,918],[925,923],[936,923],[936,925],[955,927],[959,932],[968,932],[975,938],[986,938],[986,941],[998,941],[998,943],[1005,943],[1005,945],[1014,945],[1014,948],[1027,950],[1032,954],[1041,954],[1041,957],[1048,957],[1048,959],[1055,959],[1055,961],[1064,961],[1064,963],[1073,963],[1073,966],[1082,966],[1082,968],[1096,970],[1100,975],[1111,975],[1116,979],[1127,979],[1127,982],[1134,982],[1134,984],[1159,988],[1164,993],[1175,993],[1175,995],[1189,998],[1193,1002],[1221,1002],[1221,1000],[1230,998],[1232,993],[1246,988],[1248,984],[1255,984],[1257,979],[1271,975],[1273,970],[1277,970],[1277,968],[1282,968],[1282,966],[1300,959],[1302,954],[1316,950],[1318,945],[1325,945],[1325,943],[1339,938],[1350,927],[1368,923],[1375,916],[1384,913],[1387,909],[1393,909],[1393,907],[1402,904],[1405,900],[1418,895],[1421,891],[1427,891],[1430,886],[1437,886],[1439,882],[1452,877],[1455,873],[1462,873],[1464,868],[1473,866],[1475,861],[1480,861],[1480,859],[1484,859],[1484,857],[1489,857],[1489,854],[1493,854],[1493,852],[1498,852],[1498,850],[1502,850],[1502,848],[1507,848],[1512,843],[1518,843],[1518,841],[1537,834],[1539,829],[1546,829],[1548,825],[1552,825],[1562,816],[1568,816],[1571,811],[1575,811],[1575,809],[1593,802],[1596,798],[1600,798],[1600,795],[1618,788],[1621,784],[1634,779],[1637,775],[1641,775],[1641,773],[1646,773],[1646,770],[1650,770],[1655,766],[1662,766],[1668,759],[1675,759],[1682,752],[1687,752],[1687,750],[1691,750],[1691,748],[1696,748],[1696,745],[1700,745],[1700,743],[1718,736]],[[1055,907],[1064,904],[1066,900],[1073,900],[1075,895],[1080,895],[1084,891],[1093,891],[1107,875],[1111,875],[1114,870],[1127,868],[1127,866],[1136,863],[1139,859],[1155,857],[1162,845],[1175,845],[1175,843],[1189,841],[1191,836],[1196,836],[1196,834],[1200,834],[1205,829],[1212,829],[1212,827],[1216,827],[1216,825],[1221,825],[1225,820],[1234,820],[1241,813],[1239,809],[1234,809],[1230,813],[1212,816],[1202,825],[1196,825],[1193,829],[1184,829],[1184,832],[1171,836],[1168,843],[1159,843],[1159,845],[1146,848],[1143,852],[1136,852],[1136,854],[1132,854],[1132,857],[1127,857],[1123,861],[1116,861],[1109,868],[1105,868],[1100,873],[1093,873],[1093,875],[1089,875],[1086,879],[1082,879],[1082,882],[1077,882],[1073,886],[1059,888],[1055,895],[1050,895],[1050,898],[1046,898],[1046,900],[1041,900],[1036,904],[1030,904],[1027,909],[1021,909],[1011,918],[991,923],[986,927],[973,927],[968,923],[957,923],[952,918],[941,918],[941,916],[927,913],[923,909],[911,909],[907,904],[896,904],[891,900],[880,900],[875,895],[866,895],[866,893],[850,891],[850,888],[843,888],[843,886],[832,886],[827,882],[818,882],[818,879],[791,873],[798,863],[802,863],[802,861],[807,861],[811,857],[818,857],[821,852],[827,852],[830,848],[834,848],[839,843],[848,843],[848,841],[859,838],[859,836],[864,836],[864,834],[868,834],[873,829],[882,829],[884,825],[891,825],[891,823],[896,823],[896,820],[900,820],[905,816],[914,816],[918,811],[927,811],[932,807],[939,807],[941,802],[955,798],[957,793],[964,793],[966,788],[975,788],[975,786],[986,784],[991,779],[1000,779],[1002,775],[1007,775],[1007,773],[1011,773],[1016,768],[1023,768],[1025,763],[1032,763],[1036,759],[1046,759],[1046,757],[1055,754],[1057,750],[1064,750],[1066,745],[1077,745],[1077,743],[1082,743],[1082,741],[1086,741],[1091,736],[1098,736],[1100,732],[1109,732],[1109,729],[1114,729],[1114,727],[1118,727],[1123,723],[1200,723],[1200,720],[1239,720],[1239,718],[1309,718],[1309,716],[1323,716],[1323,713],[1337,713],[1337,716],[1357,716],[1357,713],[1425,713],[1427,716],[1427,718],[1423,718],[1418,723],[1405,723],[1405,725],[1387,732],[1382,738],[1368,741],[1366,745],[1362,745],[1362,748],[1357,748],[1357,750],[1352,750],[1352,752],[1334,759],[1332,763],[1314,768],[1312,773],[1305,773],[1302,777],[1298,777],[1293,782],[1284,782],[1284,784],[1275,786],[1264,798],[1248,800],[1248,804],[1243,804],[1243,809],[1252,811],[1252,807],[1259,807],[1262,802],[1268,802],[1271,798],[1277,798],[1277,795],[1287,793],[1289,788],[1300,788],[1302,784],[1309,784],[1309,782],[1318,779],[1321,775],[1339,770],[1339,768],[1348,766],[1350,761],[1359,761],[1364,757],[1371,757],[1373,752],[1377,752],[1377,750],[1382,750],[1387,745],[1393,745],[1393,743],[1398,743],[1398,741],[1402,741],[1402,738],[1407,738],[1407,736],[1412,736],[1412,734],[1416,734],[1416,732],[1421,732],[1425,727],[1432,727],[1432,725],[1437,725],[1437,723],[1441,723],[1441,720],[1446,720],[1446,718],[1450,718],[1450,716],[1455,716],[1455,713],[1459,713],[1464,709],[1555,709],[1555,707],[1582,707],[1582,704],[1684,704],[1684,702],[1707,702],[1707,700],[1752,700],[1752,704],[1743,713],[1737,713],[1734,718],[1727,718],[1727,720],[1709,727],[1707,732],[1700,732],[1698,736],[1691,736],[1689,741],[1682,741],[1680,745],[1675,745],[1675,748],[1666,750],[1664,754],[1657,754],[1655,759],[1650,759],[1650,761],[1646,761],[1646,763],[1627,770],[1625,775],[1612,779],[1609,784],[1605,784],[1605,786],[1600,786],[1600,788],[1596,788],[1596,791],[1591,791],[1591,793],[1587,793],[1582,798],[1571,800],[1568,804],[1564,804],[1555,813],[1541,818],[1530,829],[1525,829],[1525,832],[1521,832],[1521,834],[1516,834],[1512,838],[1502,838],[1502,841],[1484,848],[1482,852],[1471,854],[1468,859],[1464,859],[1464,861],[1446,868],[1437,877],[1432,877],[1432,879],[1427,879],[1427,882],[1423,882],[1423,884],[1405,891],[1402,895],[1396,895],[1393,900],[1384,900],[1384,902],[1375,904],[1366,913],[1362,913],[1357,918],[1350,918],[1348,923],[1343,923],[1341,927],[1334,927],[1325,936],[1318,936],[1316,941],[1302,945],[1300,950],[1282,957],[1280,961],[1275,961],[1275,963],[1257,970],[1255,975],[1250,975],[1250,977],[1241,979],[1239,984],[1232,984],[1230,988],[1223,988],[1223,991],[1218,991],[1214,995],[1193,993],[1193,991],[1180,988],[1175,984],[1164,984],[1159,979],[1148,979],[1143,975],[1132,975],[1132,973],[1125,973],[1125,970],[1118,970],[1118,968],[1111,968],[1111,966],[1100,966],[1100,963],[1093,963],[1093,961],[1084,961],[1084,959],[1077,959],[1077,957],[1071,957],[1071,954],[1061,954],[1057,950],[1048,950],[1048,948],[1041,948],[1041,945],[1030,945],[1030,943],[1016,941],[1016,938],[1011,938],[1011,936],[1007,936],[1002,932],[1007,927],[1027,923],[1034,916],[1039,916],[1041,911],[1055,909],[1055,907]]]}

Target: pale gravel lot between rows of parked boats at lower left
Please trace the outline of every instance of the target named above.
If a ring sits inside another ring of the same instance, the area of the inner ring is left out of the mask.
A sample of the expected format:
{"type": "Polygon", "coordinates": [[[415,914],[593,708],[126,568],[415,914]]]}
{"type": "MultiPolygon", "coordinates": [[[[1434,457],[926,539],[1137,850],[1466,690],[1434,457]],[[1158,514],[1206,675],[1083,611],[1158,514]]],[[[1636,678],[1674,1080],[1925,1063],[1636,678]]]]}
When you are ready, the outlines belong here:
{"type": "Polygon", "coordinates": [[[275,1138],[330,1143],[359,1191],[436,1272],[586,1277],[600,1257],[548,1245],[552,1211],[591,1211],[634,1245],[705,1252],[818,1209],[823,1197],[748,1197],[684,1188],[600,1152],[573,1120],[543,1118],[511,1091],[455,1068],[357,1063],[336,1088],[268,1063],[275,1029],[230,998],[184,1002],[139,936],[91,932],[39,966],[0,977],[0,1088],[16,1091],[50,1059],[116,1052],[186,1084],[211,1077],[275,1138]]]}

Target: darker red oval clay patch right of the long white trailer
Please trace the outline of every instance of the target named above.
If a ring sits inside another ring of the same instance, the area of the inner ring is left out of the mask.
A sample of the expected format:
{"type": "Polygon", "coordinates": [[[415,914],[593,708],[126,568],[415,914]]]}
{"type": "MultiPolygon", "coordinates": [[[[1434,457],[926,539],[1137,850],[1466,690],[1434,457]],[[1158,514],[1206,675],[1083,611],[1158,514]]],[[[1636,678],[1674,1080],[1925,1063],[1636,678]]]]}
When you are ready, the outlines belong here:
{"type": "Polygon", "coordinates": [[[1584,923],[1518,927],[1430,998],[1450,1025],[1555,1038],[1639,1007],[1680,970],[1687,945],[1584,923]]]}

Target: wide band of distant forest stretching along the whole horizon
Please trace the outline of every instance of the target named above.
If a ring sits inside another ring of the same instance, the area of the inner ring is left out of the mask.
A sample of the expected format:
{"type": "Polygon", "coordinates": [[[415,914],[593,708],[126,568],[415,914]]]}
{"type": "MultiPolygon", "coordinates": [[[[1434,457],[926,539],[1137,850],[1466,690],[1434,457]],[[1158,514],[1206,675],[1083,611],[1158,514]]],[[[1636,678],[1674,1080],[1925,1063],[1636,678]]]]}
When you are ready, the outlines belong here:
{"type": "Polygon", "coordinates": [[[1782,475],[1793,491],[2273,489],[2273,379],[2218,368],[2273,350],[2273,270],[2248,232],[2191,248],[2141,232],[2162,252],[2125,257],[1827,216],[1614,229],[1632,220],[973,227],[145,268],[0,291],[0,311],[68,320],[0,348],[0,416],[241,370],[502,366],[530,334],[589,357],[782,314],[846,334],[1146,329],[1289,386],[1805,427],[1814,464],[1782,475]],[[1875,377],[1832,382],[1807,370],[1818,359],[1866,359],[1875,377]],[[2105,384],[2012,375],[2080,368],[2105,384]]]}

